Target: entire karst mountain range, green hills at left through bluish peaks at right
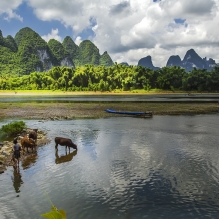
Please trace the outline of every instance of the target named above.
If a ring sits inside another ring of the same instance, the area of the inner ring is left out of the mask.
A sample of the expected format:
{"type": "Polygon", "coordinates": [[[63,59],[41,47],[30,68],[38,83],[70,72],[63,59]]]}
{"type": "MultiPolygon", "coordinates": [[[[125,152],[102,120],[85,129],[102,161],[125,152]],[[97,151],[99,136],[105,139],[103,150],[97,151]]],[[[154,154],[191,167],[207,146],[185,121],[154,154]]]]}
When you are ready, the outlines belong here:
{"type": "MultiPolygon", "coordinates": [[[[90,40],[82,41],[79,46],[70,36],[66,36],[62,43],[55,39],[46,42],[29,27],[20,29],[14,38],[10,35],[4,38],[0,30],[0,76],[26,75],[48,71],[53,66],[77,67],[86,64],[112,66],[114,62],[107,51],[100,54],[90,40]]],[[[128,66],[127,62],[120,64],[128,66]]],[[[141,58],[137,65],[159,69],[153,65],[151,56],[141,58]]],[[[194,67],[210,71],[217,64],[212,58],[201,58],[194,49],[190,49],[183,60],[178,55],[170,56],[166,66],[180,66],[188,72],[194,67]]]]}

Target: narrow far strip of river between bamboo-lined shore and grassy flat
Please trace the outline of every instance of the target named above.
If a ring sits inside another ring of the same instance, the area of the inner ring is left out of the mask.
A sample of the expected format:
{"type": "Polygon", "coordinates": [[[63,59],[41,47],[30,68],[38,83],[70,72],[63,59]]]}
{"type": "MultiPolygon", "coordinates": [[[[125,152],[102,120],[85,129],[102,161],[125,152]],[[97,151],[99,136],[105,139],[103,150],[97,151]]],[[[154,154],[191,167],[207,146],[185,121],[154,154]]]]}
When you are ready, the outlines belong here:
{"type": "Polygon", "coordinates": [[[218,102],[219,94],[0,95],[0,102],[218,102]]]}

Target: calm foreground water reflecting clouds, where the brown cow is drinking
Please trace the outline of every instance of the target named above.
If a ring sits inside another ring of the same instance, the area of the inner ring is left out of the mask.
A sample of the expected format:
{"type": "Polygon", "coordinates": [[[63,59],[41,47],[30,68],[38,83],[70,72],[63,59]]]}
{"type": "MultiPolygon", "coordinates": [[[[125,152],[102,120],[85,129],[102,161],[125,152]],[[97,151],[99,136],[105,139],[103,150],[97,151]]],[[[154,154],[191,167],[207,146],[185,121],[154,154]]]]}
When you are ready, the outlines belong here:
{"type": "Polygon", "coordinates": [[[0,175],[0,219],[42,218],[44,191],[68,219],[219,218],[218,114],[26,123],[52,141],[0,175]]]}

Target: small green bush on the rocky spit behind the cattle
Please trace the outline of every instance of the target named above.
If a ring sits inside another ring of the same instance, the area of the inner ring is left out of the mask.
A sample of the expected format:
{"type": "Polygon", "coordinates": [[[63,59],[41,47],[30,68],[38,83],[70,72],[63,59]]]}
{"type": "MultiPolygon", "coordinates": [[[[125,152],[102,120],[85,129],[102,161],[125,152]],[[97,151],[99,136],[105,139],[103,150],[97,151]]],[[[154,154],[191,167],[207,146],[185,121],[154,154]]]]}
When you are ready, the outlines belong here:
{"type": "Polygon", "coordinates": [[[25,128],[26,124],[23,121],[16,121],[3,125],[1,131],[5,132],[8,136],[14,136],[19,134],[25,128]]]}

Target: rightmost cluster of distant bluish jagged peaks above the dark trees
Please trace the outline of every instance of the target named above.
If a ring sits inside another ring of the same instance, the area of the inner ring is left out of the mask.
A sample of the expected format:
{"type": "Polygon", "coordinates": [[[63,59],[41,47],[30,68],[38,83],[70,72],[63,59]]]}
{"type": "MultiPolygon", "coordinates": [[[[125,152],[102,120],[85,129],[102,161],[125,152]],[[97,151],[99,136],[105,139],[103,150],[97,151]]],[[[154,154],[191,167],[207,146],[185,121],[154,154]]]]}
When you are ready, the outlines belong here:
{"type": "Polygon", "coordinates": [[[183,60],[179,56],[170,56],[166,66],[181,66],[188,72],[192,71],[193,68],[211,71],[217,64],[212,58],[209,60],[207,58],[201,58],[194,49],[190,49],[186,52],[183,60]]]}

